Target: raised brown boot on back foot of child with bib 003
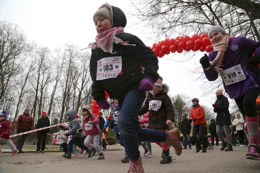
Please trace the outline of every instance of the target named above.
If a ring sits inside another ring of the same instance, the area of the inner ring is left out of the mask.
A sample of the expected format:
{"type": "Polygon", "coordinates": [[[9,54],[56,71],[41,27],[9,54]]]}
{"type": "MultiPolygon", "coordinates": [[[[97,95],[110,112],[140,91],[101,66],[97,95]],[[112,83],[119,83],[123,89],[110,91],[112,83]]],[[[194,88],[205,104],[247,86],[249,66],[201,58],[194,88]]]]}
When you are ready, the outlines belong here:
{"type": "Polygon", "coordinates": [[[174,147],[175,154],[177,156],[182,154],[182,146],[180,142],[180,131],[178,128],[174,128],[167,133],[167,139],[165,140],[165,143],[171,145],[174,147]]]}

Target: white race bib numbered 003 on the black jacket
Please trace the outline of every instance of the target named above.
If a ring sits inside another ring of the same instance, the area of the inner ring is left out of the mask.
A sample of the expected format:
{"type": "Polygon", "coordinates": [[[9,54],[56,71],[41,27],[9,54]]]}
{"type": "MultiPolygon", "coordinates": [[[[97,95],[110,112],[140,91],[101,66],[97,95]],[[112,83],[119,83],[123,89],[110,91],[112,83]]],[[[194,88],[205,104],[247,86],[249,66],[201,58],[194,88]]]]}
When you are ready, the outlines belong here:
{"type": "Polygon", "coordinates": [[[97,64],[96,80],[115,78],[122,70],[122,57],[114,56],[102,58],[97,64]]]}

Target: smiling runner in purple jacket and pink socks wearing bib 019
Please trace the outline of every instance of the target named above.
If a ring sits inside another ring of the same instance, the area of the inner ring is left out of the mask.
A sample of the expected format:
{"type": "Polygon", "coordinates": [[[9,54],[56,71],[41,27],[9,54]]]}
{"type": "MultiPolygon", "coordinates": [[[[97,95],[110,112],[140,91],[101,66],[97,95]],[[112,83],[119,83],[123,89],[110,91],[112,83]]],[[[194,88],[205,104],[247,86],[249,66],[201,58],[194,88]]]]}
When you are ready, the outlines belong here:
{"type": "Polygon", "coordinates": [[[204,74],[209,81],[222,76],[226,92],[235,99],[248,123],[250,145],[246,158],[260,160],[259,118],[255,104],[260,94],[260,42],[245,37],[229,38],[219,25],[208,27],[208,36],[213,51],[200,59],[204,74]]]}

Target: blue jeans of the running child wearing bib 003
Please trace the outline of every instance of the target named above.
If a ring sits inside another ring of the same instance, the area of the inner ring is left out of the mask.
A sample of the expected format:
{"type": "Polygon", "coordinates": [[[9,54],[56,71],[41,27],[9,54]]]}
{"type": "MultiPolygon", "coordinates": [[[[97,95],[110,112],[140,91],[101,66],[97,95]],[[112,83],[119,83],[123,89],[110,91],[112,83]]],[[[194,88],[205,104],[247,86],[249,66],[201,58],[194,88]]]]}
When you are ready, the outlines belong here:
{"type": "Polygon", "coordinates": [[[117,119],[117,129],[124,140],[125,150],[130,160],[139,159],[138,141],[164,142],[167,133],[161,130],[142,129],[139,124],[138,112],[145,99],[145,91],[134,88],[125,97],[118,98],[120,115],[117,119]]]}

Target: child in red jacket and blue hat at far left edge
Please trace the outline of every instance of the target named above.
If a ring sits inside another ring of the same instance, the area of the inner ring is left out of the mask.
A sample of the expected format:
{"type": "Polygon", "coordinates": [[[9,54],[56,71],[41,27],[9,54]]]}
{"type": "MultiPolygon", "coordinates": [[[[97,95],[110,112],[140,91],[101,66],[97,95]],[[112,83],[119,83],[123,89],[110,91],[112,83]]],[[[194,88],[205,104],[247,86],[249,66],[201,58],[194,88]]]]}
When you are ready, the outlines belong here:
{"type": "MultiPolygon", "coordinates": [[[[2,113],[0,114],[0,140],[5,139],[5,142],[13,151],[12,156],[14,156],[14,155],[16,155],[16,153],[19,152],[19,150],[17,150],[14,147],[14,145],[10,139],[10,130],[12,127],[10,125],[9,119],[6,119],[6,117],[7,117],[6,111],[2,111],[2,113]]],[[[1,148],[0,148],[0,153],[2,153],[1,148]]]]}

